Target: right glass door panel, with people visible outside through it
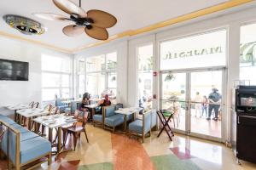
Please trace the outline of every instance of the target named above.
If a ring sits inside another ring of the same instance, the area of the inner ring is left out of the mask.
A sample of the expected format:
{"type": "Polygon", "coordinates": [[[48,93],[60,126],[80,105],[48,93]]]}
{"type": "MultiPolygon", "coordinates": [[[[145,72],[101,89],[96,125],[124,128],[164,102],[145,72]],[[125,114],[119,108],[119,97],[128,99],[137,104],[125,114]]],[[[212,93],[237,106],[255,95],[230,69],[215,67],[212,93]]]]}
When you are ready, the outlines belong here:
{"type": "Polygon", "coordinates": [[[190,133],[221,138],[223,71],[190,73],[190,133]]]}

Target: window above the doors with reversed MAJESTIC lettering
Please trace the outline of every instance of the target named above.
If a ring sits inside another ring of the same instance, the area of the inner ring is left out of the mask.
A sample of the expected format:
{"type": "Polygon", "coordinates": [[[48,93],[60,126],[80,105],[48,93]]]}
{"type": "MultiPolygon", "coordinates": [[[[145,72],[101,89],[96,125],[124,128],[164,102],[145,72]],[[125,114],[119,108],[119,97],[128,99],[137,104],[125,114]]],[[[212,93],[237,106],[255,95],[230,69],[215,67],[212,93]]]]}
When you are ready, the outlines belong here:
{"type": "Polygon", "coordinates": [[[226,65],[227,31],[214,31],[160,43],[160,70],[226,65]]]}

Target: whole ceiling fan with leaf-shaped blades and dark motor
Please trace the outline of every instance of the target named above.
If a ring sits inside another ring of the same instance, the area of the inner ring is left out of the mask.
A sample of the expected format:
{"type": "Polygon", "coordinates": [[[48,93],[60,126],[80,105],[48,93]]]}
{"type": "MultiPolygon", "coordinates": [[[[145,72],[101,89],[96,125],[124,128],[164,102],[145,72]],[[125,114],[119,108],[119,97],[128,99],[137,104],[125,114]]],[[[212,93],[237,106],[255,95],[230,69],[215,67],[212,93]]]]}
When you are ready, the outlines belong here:
{"type": "Polygon", "coordinates": [[[102,10],[92,9],[84,11],[81,8],[81,0],[79,6],[70,0],[53,0],[55,6],[60,8],[67,14],[69,18],[61,14],[50,13],[34,13],[33,15],[45,20],[71,20],[74,25],[65,26],[62,31],[69,37],[78,36],[85,33],[97,40],[107,40],[108,31],[106,28],[114,26],[117,22],[112,14],[108,14],[102,10]]]}

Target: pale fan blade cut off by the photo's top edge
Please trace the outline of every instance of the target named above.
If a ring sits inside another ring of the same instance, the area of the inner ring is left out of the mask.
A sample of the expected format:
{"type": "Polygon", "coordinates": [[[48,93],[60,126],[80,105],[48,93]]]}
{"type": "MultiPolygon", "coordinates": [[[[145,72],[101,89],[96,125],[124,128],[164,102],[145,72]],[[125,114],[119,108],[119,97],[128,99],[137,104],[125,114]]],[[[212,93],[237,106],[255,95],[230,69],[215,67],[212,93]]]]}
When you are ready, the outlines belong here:
{"type": "Polygon", "coordinates": [[[78,14],[81,18],[86,17],[84,9],[70,0],[53,0],[53,3],[67,14],[78,14]]]}

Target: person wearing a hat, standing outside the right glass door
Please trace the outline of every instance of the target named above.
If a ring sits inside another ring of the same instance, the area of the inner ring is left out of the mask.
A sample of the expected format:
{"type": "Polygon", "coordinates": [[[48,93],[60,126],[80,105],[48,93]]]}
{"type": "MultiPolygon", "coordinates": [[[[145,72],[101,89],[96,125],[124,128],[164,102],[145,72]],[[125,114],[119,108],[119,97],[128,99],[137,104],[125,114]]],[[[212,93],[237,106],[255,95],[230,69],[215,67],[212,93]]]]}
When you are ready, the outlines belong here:
{"type": "Polygon", "coordinates": [[[209,94],[208,99],[209,99],[209,111],[208,111],[207,120],[211,119],[212,110],[213,110],[214,117],[212,118],[212,120],[218,121],[218,109],[220,106],[221,95],[218,93],[217,88],[212,88],[212,93],[209,94]]]}

